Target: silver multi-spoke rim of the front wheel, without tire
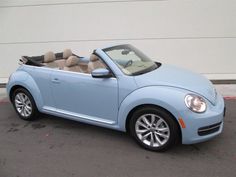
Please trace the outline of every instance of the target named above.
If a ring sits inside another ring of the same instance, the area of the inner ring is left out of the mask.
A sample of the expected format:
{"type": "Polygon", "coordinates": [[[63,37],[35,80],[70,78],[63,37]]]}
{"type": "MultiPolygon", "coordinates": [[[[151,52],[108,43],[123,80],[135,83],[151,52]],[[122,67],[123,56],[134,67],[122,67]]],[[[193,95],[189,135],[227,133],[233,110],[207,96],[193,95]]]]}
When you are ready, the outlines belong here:
{"type": "Polygon", "coordinates": [[[150,147],[163,146],[170,138],[170,128],[166,121],[156,114],[144,114],[135,123],[139,140],[150,147]]]}

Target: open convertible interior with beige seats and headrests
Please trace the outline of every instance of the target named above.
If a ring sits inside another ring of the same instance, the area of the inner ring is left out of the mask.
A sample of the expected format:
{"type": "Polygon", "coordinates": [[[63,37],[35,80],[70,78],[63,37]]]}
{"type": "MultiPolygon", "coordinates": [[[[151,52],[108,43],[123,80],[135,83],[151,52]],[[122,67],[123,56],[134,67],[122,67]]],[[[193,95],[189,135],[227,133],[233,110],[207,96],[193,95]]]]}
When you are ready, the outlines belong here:
{"type": "Polygon", "coordinates": [[[97,68],[106,68],[104,62],[95,54],[90,58],[80,57],[65,49],[62,53],[49,51],[41,56],[22,56],[21,63],[32,66],[48,67],[64,71],[91,73],[97,68]]]}

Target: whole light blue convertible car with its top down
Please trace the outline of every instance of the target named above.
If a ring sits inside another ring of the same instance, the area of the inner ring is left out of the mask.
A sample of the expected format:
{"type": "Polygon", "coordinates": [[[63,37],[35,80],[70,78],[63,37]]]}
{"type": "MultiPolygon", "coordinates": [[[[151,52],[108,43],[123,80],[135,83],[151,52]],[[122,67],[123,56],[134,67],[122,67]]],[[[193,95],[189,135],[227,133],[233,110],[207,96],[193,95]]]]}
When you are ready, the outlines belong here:
{"type": "Polygon", "coordinates": [[[7,91],[24,120],[41,112],[129,132],[154,151],[222,132],[224,100],[209,80],[131,45],[96,49],[90,58],[66,49],[20,61],[7,91]]]}

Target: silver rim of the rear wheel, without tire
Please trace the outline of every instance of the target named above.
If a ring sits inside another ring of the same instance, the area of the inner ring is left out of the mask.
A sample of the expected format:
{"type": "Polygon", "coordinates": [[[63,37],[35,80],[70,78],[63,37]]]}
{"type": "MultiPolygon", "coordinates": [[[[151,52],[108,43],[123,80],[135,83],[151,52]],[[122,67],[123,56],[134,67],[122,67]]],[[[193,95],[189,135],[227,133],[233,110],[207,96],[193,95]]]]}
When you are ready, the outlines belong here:
{"type": "Polygon", "coordinates": [[[15,96],[15,107],[17,112],[23,117],[29,117],[32,113],[32,103],[24,93],[17,93],[15,96]]]}

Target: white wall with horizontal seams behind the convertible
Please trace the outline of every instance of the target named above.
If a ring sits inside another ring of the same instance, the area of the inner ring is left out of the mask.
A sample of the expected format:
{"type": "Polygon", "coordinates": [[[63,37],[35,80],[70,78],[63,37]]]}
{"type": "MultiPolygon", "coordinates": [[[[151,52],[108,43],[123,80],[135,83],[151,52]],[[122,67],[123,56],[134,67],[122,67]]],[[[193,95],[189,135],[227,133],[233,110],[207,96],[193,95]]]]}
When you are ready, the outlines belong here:
{"type": "Polygon", "coordinates": [[[236,79],[236,1],[0,1],[0,82],[22,55],[89,55],[116,43],[210,79],[236,79]]]}

